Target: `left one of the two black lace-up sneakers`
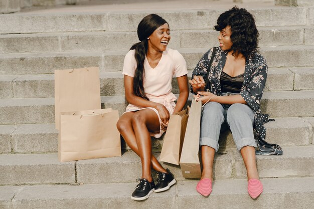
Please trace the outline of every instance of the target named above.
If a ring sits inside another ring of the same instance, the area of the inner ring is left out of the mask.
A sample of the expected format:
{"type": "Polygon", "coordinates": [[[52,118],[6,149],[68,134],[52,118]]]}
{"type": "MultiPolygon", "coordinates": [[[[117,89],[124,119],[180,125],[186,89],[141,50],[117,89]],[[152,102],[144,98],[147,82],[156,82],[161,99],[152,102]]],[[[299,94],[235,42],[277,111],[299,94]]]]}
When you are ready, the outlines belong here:
{"type": "Polygon", "coordinates": [[[145,178],[137,178],[136,181],[139,181],[139,184],[137,184],[137,186],[135,187],[135,190],[131,195],[131,199],[147,199],[149,194],[154,191],[155,183],[153,182],[153,180],[149,182],[145,178]]]}

